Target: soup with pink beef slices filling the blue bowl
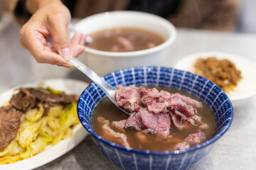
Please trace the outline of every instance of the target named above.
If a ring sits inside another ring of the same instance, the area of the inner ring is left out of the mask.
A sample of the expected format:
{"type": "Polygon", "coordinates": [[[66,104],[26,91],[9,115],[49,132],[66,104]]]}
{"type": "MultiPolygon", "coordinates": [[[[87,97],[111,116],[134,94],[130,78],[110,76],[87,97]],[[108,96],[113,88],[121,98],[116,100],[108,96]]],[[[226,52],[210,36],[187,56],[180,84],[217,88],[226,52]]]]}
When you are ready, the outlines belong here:
{"type": "Polygon", "coordinates": [[[119,106],[105,98],[95,108],[92,126],[98,135],[124,147],[151,151],[186,149],[215,135],[215,117],[205,103],[167,87],[118,86],[119,106]]]}

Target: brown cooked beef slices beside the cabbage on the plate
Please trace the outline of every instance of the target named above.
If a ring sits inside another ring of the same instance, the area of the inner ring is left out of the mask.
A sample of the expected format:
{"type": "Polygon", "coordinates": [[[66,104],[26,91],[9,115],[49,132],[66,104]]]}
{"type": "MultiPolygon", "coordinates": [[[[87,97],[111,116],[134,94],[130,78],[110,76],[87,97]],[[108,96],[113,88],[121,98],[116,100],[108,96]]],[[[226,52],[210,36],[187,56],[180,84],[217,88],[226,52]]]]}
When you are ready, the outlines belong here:
{"type": "Polygon", "coordinates": [[[21,123],[21,115],[31,108],[37,108],[38,103],[43,103],[44,115],[53,103],[71,103],[76,101],[75,95],[51,94],[47,89],[20,88],[18,93],[11,96],[9,106],[0,108],[0,151],[14,140],[21,123]]]}

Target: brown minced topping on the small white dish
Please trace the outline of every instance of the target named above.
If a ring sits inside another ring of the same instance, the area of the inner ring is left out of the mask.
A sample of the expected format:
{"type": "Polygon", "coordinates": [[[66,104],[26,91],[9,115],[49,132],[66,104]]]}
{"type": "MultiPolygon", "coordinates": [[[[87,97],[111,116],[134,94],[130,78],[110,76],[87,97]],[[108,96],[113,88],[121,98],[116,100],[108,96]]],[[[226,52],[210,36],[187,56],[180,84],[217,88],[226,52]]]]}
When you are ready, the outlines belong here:
{"type": "Polygon", "coordinates": [[[240,70],[229,60],[218,60],[215,57],[196,60],[195,73],[206,77],[220,86],[223,91],[233,89],[242,78],[240,70]]]}

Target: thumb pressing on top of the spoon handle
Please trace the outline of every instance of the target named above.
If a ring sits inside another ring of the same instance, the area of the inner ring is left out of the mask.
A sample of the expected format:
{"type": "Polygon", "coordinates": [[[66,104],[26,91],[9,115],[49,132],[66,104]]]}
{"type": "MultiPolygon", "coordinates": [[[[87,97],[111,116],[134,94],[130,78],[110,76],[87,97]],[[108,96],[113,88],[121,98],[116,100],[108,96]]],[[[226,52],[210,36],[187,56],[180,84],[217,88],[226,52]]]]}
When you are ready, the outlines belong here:
{"type": "Polygon", "coordinates": [[[60,16],[50,21],[48,28],[52,35],[55,49],[65,60],[70,60],[73,57],[73,51],[68,38],[68,21],[65,21],[65,18],[60,16]]]}

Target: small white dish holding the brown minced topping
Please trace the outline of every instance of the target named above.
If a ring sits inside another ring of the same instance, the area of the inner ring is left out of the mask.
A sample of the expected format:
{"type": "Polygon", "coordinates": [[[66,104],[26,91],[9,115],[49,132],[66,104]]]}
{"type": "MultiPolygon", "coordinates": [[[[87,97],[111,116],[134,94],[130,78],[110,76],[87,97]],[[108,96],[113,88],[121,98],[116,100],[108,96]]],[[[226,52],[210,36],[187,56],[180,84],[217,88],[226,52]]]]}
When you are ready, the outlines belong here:
{"type": "Polygon", "coordinates": [[[196,62],[198,58],[207,57],[230,60],[241,71],[242,79],[238,82],[238,85],[233,91],[226,92],[233,107],[240,106],[252,96],[256,95],[256,64],[247,60],[245,57],[226,52],[200,52],[183,57],[174,65],[174,68],[194,72],[194,62],[196,62]]]}

